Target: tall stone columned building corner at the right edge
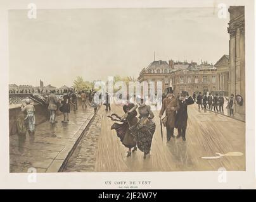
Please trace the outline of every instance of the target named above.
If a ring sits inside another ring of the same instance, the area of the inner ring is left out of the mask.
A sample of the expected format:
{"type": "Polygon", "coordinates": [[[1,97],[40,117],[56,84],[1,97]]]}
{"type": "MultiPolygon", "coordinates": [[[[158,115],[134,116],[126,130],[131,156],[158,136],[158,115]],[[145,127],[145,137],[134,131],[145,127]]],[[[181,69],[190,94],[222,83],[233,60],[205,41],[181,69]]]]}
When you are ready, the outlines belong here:
{"type": "Polygon", "coordinates": [[[230,6],[229,14],[229,94],[243,97],[234,112],[245,119],[245,7],[230,6]]]}

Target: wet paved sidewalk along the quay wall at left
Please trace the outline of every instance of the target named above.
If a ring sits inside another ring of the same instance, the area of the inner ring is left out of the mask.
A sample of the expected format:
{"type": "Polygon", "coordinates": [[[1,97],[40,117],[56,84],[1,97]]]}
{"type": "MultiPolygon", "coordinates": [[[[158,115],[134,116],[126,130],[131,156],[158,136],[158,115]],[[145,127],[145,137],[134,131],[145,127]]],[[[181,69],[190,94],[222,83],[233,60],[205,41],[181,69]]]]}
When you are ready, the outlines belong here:
{"type": "Polygon", "coordinates": [[[56,117],[56,124],[39,124],[34,138],[28,133],[10,136],[10,172],[58,172],[93,116],[93,108],[87,107],[70,112],[67,124],[61,122],[63,116],[56,117]]]}

